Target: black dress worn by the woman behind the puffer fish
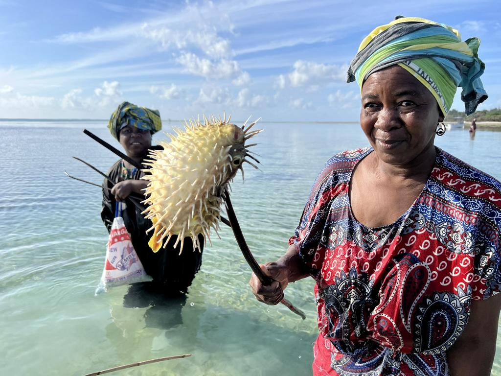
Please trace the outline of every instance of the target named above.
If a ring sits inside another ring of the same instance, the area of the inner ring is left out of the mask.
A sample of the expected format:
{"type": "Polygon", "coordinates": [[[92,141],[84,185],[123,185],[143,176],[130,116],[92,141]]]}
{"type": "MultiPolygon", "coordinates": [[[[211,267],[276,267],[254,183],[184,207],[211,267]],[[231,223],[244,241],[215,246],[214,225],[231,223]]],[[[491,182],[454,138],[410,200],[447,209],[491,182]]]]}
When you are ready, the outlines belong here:
{"type": "MultiPolygon", "coordinates": [[[[152,147],[152,149],[160,148],[160,146],[152,147]]],[[[108,171],[108,176],[116,182],[123,180],[120,162],[121,160],[118,160],[108,171]]],[[[139,179],[141,175],[142,172],[137,170],[133,178],[139,179]]],[[[111,189],[113,184],[105,179],[103,186],[108,186],[111,189]]],[[[115,203],[115,197],[110,191],[103,189],[101,218],[108,232],[110,232],[111,224],[115,218],[115,203]]],[[[126,208],[122,215],[125,227],[131,235],[132,244],[146,273],[153,278],[155,287],[166,294],[186,293],[202,264],[203,237],[198,236],[200,250],[193,251],[191,239],[185,238],[183,251],[179,255],[180,243],[174,248],[176,237],[173,236],[165,248],[160,248],[157,253],[154,253],[148,246],[153,231],[146,234],[146,230],[152,226],[152,223],[150,220],[144,219],[141,214],[145,207],[141,204],[140,206],[144,208],[140,210],[131,200],[126,200],[125,204],[126,208]]]]}

